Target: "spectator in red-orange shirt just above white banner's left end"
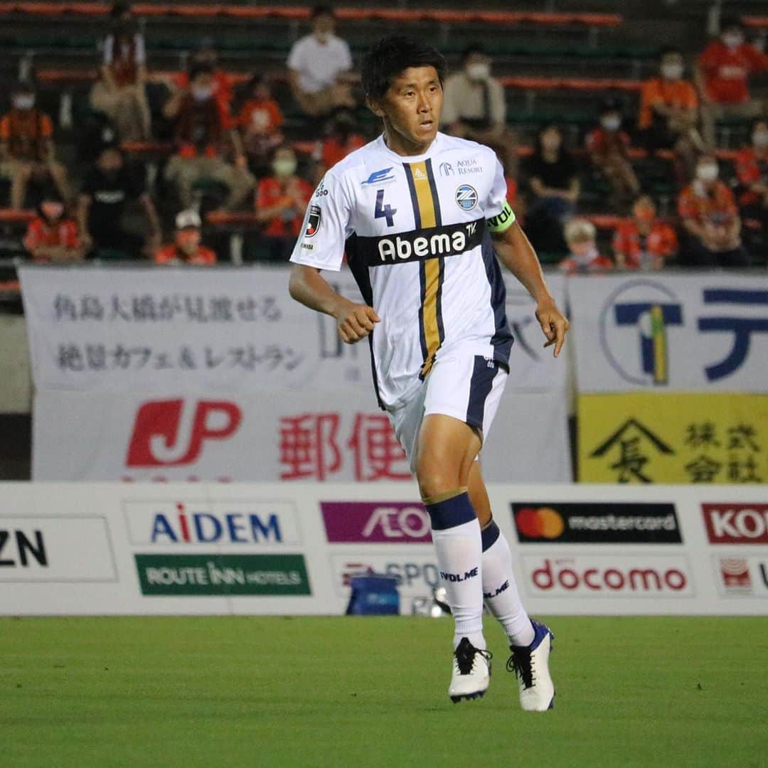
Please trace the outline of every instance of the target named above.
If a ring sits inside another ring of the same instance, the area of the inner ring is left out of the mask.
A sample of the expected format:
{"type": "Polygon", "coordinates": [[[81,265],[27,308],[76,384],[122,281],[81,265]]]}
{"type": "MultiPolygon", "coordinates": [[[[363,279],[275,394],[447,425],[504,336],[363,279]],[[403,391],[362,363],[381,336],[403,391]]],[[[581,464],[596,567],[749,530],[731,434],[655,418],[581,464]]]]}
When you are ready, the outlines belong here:
{"type": "Polygon", "coordinates": [[[66,213],[58,190],[45,189],[38,204],[38,216],[29,223],[24,237],[24,247],[33,260],[40,263],[82,260],[78,225],[66,213]]]}

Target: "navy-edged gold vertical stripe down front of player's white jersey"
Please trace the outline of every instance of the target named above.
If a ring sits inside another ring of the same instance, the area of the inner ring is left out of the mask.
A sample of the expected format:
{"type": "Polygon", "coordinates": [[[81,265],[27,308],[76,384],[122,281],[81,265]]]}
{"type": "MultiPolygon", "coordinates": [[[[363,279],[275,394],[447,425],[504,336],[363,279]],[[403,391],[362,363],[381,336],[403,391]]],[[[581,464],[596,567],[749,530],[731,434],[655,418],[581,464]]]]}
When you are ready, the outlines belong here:
{"type": "MultiPolygon", "coordinates": [[[[437,200],[435,179],[432,176],[432,161],[406,164],[406,177],[411,190],[415,225],[418,229],[432,229],[442,223],[440,203],[437,200]]],[[[419,280],[422,287],[422,307],[419,311],[424,362],[420,376],[425,378],[432,370],[435,354],[445,336],[442,327],[442,280],[445,267],[442,258],[422,260],[419,266],[419,280]]]]}

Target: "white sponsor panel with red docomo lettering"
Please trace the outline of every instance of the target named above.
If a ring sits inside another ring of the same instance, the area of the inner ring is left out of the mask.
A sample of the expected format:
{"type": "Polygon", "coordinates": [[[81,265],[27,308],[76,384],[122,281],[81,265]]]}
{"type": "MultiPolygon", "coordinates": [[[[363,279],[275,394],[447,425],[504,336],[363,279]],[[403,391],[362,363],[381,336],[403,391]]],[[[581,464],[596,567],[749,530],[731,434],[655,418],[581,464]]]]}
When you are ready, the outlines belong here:
{"type": "Polygon", "coordinates": [[[683,556],[578,554],[568,558],[523,555],[531,597],[691,598],[690,564],[683,556]]]}

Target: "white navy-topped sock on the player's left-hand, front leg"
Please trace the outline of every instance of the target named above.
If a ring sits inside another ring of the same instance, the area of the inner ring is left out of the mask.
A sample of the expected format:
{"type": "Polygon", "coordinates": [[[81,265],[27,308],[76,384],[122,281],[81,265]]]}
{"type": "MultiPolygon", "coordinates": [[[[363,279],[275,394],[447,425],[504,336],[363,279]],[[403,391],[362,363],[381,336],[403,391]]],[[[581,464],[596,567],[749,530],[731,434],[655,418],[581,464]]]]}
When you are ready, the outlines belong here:
{"type": "Polygon", "coordinates": [[[482,635],[482,574],[480,524],[466,493],[427,504],[432,518],[440,579],[455,621],[454,649],[462,637],[485,650],[482,635]]]}

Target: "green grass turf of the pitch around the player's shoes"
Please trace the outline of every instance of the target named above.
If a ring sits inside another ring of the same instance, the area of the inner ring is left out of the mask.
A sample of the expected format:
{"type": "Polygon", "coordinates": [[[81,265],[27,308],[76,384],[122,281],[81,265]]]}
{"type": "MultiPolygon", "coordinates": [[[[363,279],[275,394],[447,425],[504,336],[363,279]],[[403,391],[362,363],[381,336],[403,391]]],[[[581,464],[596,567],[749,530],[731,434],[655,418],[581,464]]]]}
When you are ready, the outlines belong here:
{"type": "Polygon", "coordinates": [[[0,764],[768,766],[768,617],[557,618],[555,709],[503,638],[453,705],[449,620],[0,620],[0,764]]]}

